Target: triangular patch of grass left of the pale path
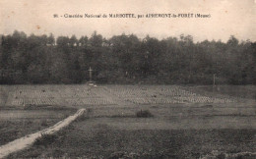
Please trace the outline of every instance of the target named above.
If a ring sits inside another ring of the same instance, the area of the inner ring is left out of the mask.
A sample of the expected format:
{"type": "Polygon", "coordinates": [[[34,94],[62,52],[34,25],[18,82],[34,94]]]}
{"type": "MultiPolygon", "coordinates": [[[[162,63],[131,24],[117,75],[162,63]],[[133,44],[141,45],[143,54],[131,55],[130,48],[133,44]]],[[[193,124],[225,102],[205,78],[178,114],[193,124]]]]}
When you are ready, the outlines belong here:
{"type": "Polygon", "coordinates": [[[55,125],[76,110],[1,110],[0,145],[55,125]]]}

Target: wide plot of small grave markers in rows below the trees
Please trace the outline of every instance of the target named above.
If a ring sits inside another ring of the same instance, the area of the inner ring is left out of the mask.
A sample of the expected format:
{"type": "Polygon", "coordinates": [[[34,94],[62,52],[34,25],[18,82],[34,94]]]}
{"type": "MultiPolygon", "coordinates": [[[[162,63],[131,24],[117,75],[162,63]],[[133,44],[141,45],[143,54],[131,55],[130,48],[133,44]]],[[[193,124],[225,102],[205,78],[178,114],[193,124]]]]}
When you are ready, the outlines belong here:
{"type": "Polygon", "coordinates": [[[107,105],[116,104],[108,94],[135,104],[227,103],[232,98],[208,97],[182,89],[180,86],[110,85],[92,88],[87,85],[14,86],[6,105],[107,105]],[[102,93],[106,93],[102,95],[102,93]]]}

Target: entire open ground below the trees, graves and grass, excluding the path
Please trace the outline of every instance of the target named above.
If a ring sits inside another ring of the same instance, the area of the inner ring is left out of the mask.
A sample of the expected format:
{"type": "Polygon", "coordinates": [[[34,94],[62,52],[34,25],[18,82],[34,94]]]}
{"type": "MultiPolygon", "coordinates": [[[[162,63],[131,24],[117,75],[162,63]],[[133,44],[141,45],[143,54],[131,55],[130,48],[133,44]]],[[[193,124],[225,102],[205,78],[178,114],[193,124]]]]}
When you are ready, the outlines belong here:
{"type": "Polygon", "coordinates": [[[0,90],[1,144],[87,109],[47,144],[36,143],[8,158],[199,158],[256,152],[255,85],[46,84],[1,85],[0,90]]]}

